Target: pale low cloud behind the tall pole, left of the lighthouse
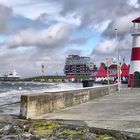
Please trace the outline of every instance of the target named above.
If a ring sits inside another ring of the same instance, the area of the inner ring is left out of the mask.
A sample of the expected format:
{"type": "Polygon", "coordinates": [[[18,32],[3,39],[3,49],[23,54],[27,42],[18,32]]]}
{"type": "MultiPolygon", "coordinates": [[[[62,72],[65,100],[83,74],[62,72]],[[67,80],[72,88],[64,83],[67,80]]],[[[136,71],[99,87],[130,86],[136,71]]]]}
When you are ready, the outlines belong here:
{"type": "Polygon", "coordinates": [[[125,36],[123,40],[118,40],[116,44],[116,38],[102,40],[92,51],[91,57],[96,62],[105,62],[106,58],[117,58],[117,47],[119,56],[121,59],[125,58],[126,63],[130,63],[130,54],[132,48],[132,36],[125,36]]]}

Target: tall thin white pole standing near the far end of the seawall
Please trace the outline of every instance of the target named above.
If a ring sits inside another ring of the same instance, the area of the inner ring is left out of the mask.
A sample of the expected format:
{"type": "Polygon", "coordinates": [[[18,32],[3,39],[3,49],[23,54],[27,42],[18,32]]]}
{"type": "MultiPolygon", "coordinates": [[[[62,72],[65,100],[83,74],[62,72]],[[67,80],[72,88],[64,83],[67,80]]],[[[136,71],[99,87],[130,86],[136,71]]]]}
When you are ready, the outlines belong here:
{"type": "Polygon", "coordinates": [[[116,50],[117,50],[117,73],[118,73],[118,90],[120,91],[120,67],[119,67],[119,46],[118,46],[118,30],[115,29],[116,34],[116,50]]]}

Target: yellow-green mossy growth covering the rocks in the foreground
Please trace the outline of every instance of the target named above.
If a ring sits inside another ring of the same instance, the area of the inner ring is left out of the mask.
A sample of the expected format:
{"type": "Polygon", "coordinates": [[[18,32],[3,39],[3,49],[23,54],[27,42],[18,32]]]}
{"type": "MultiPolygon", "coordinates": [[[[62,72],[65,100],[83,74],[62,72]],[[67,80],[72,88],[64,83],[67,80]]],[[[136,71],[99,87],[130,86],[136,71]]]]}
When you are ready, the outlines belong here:
{"type": "MultiPolygon", "coordinates": [[[[65,128],[61,123],[54,122],[54,121],[35,121],[24,124],[24,131],[27,133],[31,133],[37,135],[40,138],[48,138],[56,137],[58,139],[67,139],[67,140],[86,140],[88,138],[94,140],[116,140],[114,137],[104,134],[96,134],[91,133],[89,129],[85,128],[65,128]]],[[[119,140],[124,140],[124,136],[120,137],[117,135],[119,140]]]]}

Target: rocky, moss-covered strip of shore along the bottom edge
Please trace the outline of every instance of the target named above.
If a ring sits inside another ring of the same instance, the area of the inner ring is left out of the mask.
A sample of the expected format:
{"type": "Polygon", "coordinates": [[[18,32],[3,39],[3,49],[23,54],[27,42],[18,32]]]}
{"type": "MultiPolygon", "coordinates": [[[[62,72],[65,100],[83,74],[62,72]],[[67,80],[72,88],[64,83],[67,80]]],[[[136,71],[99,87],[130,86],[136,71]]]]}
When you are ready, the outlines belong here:
{"type": "Polygon", "coordinates": [[[98,140],[136,140],[139,133],[117,131],[96,127],[88,127],[83,121],[77,120],[24,120],[18,116],[0,116],[0,138],[9,139],[89,139],[98,140]]]}

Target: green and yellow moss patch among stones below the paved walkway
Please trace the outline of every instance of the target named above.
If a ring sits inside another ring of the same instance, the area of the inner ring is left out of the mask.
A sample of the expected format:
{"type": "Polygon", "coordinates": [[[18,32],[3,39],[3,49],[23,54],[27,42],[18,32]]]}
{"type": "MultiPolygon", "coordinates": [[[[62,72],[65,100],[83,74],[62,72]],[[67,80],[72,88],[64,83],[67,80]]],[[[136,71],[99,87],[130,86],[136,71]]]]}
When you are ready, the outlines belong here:
{"type": "MultiPolygon", "coordinates": [[[[66,139],[66,140],[127,140],[126,135],[113,132],[112,135],[101,131],[94,132],[87,127],[71,127],[66,126],[63,121],[45,121],[34,120],[20,122],[20,128],[25,133],[33,134],[39,138],[48,138],[48,140],[66,139]]],[[[109,130],[110,131],[110,130],[109,130]]]]}

